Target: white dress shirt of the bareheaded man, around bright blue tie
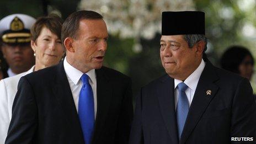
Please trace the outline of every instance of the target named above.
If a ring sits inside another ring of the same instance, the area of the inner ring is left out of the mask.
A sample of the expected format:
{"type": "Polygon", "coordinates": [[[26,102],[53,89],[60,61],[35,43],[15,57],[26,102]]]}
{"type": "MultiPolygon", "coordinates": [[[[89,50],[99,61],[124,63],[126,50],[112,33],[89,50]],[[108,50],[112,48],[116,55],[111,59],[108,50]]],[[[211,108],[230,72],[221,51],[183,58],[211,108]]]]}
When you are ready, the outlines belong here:
{"type": "MultiPolygon", "coordinates": [[[[81,81],[80,78],[82,77],[83,72],[71,66],[70,63],[67,62],[66,57],[64,58],[63,65],[64,65],[64,70],[66,72],[66,76],[68,79],[68,83],[70,84],[70,89],[73,95],[74,104],[76,105],[76,109],[78,112],[79,94],[83,86],[83,82],[81,81]]],[[[86,74],[89,76],[89,83],[93,89],[94,119],[95,119],[97,114],[97,81],[96,81],[95,69],[88,71],[86,74]]]]}

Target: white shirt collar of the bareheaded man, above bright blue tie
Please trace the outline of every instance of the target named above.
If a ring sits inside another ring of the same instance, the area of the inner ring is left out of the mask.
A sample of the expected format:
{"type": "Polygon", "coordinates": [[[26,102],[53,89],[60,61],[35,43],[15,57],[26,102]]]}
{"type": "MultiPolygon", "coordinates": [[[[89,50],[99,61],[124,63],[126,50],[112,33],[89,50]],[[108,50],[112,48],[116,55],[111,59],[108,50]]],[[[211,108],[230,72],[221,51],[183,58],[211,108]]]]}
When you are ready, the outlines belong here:
{"type": "MultiPolygon", "coordinates": [[[[69,77],[74,84],[77,84],[79,82],[79,79],[82,77],[83,72],[77,70],[77,68],[74,68],[72,65],[70,65],[70,63],[67,62],[66,57],[64,58],[63,66],[67,77],[69,77]]],[[[95,69],[88,71],[86,74],[89,76],[90,82],[92,82],[92,84],[96,83],[95,69]]]]}

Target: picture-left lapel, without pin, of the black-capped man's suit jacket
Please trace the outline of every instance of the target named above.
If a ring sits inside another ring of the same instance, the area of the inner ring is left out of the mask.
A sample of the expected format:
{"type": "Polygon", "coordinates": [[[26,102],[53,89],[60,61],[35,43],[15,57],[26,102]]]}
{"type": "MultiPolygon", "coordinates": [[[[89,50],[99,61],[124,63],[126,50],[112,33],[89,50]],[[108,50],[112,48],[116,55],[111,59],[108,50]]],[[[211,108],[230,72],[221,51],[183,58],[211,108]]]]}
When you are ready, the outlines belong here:
{"type": "Polygon", "coordinates": [[[177,121],[174,104],[174,79],[168,75],[157,85],[158,101],[171,143],[178,143],[177,121]]]}

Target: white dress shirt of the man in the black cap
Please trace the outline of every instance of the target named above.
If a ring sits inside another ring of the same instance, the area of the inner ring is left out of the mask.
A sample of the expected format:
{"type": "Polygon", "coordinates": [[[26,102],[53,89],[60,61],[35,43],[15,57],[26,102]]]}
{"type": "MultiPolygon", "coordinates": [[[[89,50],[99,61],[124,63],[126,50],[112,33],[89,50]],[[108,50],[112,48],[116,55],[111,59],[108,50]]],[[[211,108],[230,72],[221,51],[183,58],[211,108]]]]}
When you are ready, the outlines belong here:
{"type": "MultiPolygon", "coordinates": [[[[201,60],[201,63],[198,66],[198,68],[196,68],[196,70],[193,73],[191,73],[190,76],[188,78],[186,78],[185,81],[184,81],[186,86],[188,86],[188,88],[185,90],[185,93],[186,93],[186,97],[188,97],[189,107],[190,107],[190,105],[192,103],[192,100],[194,98],[195,89],[196,89],[196,86],[198,86],[198,81],[199,81],[199,78],[200,78],[204,68],[205,68],[205,61],[201,60]]],[[[178,99],[179,99],[178,98],[179,90],[178,90],[177,86],[181,82],[183,82],[183,81],[180,81],[179,79],[174,79],[175,109],[177,108],[178,99]]]]}

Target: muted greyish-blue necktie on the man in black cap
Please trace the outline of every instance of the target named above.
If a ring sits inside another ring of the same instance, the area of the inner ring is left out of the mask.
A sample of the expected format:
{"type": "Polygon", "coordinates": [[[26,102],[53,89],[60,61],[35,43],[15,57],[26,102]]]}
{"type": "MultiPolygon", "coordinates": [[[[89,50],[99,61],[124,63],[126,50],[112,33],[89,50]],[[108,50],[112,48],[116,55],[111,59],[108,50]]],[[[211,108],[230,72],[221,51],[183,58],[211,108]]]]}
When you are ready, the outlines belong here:
{"type": "Polygon", "coordinates": [[[179,138],[182,135],[183,127],[186,121],[186,116],[188,115],[188,112],[189,112],[189,102],[185,93],[186,88],[188,88],[188,86],[186,86],[185,83],[182,82],[178,84],[179,98],[178,98],[176,113],[177,113],[179,138]]]}

